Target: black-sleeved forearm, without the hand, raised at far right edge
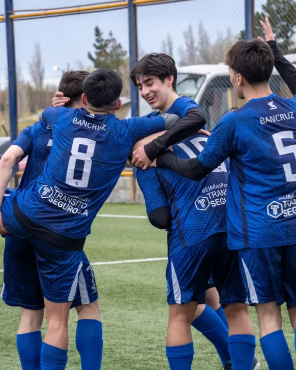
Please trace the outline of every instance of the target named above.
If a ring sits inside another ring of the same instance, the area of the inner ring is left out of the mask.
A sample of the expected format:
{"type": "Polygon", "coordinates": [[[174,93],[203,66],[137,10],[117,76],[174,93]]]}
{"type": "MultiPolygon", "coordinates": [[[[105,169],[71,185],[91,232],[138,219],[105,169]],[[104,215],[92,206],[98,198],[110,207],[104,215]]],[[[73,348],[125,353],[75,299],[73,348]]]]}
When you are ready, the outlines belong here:
{"type": "Polygon", "coordinates": [[[275,57],[275,68],[287,84],[291,93],[296,94],[296,68],[282,55],[276,41],[268,41],[275,57]]]}

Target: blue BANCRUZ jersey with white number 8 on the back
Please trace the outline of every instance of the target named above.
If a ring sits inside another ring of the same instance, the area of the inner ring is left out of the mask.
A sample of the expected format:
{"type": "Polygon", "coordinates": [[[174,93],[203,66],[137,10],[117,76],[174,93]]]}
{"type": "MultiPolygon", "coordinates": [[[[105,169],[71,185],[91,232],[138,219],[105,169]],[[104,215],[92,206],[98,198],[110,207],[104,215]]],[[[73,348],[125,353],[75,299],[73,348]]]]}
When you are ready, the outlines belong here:
{"type": "Polygon", "coordinates": [[[91,231],[97,212],[124,169],[133,142],[165,129],[163,117],[120,120],[85,109],[47,108],[54,145],[44,172],[17,196],[19,209],[71,238],[91,231]]]}

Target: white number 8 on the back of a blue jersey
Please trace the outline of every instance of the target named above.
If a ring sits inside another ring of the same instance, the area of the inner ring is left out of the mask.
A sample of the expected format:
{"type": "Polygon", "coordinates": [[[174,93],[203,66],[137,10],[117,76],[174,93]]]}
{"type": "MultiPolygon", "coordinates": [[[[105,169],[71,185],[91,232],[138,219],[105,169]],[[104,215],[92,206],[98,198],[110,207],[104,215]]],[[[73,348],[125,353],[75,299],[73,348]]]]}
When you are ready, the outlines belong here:
{"type": "Polygon", "coordinates": [[[87,188],[88,180],[90,179],[91,174],[92,157],[95,152],[95,146],[96,146],[95,140],[81,137],[74,138],[71,149],[72,156],[69,159],[66,175],[66,183],[68,185],[71,185],[72,187],[76,188],[87,188]],[[79,151],[79,145],[86,146],[86,152],[79,151]],[[77,172],[79,171],[78,172],[79,179],[74,178],[75,169],[77,170],[77,172]],[[81,170],[82,175],[80,175],[81,170]]]}

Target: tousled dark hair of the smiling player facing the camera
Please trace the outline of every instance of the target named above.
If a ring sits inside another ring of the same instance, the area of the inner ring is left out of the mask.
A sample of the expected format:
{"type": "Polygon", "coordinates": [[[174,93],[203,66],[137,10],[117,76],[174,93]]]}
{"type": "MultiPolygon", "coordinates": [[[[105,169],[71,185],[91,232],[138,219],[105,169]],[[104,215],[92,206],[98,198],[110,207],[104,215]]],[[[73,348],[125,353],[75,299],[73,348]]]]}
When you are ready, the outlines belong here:
{"type": "Polygon", "coordinates": [[[130,79],[135,86],[141,76],[157,76],[161,82],[173,76],[173,89],[176,91],[177,69],[174,59],[167,54],[151,53],[144,55],[130,70],[130,79]]]}

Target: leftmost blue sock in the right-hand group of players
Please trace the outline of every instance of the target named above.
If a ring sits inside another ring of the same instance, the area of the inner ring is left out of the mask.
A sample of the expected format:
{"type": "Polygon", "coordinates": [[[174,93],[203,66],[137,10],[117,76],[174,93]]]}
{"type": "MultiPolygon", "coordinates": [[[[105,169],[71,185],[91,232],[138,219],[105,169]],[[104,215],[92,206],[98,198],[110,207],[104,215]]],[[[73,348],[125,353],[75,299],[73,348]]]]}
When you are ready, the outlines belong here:
{"type": "Polygon", "coordinates": [[[170,370],[191,370],[193,355],[193,342],[183,346],[166,347],[170,370]]]}

